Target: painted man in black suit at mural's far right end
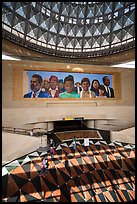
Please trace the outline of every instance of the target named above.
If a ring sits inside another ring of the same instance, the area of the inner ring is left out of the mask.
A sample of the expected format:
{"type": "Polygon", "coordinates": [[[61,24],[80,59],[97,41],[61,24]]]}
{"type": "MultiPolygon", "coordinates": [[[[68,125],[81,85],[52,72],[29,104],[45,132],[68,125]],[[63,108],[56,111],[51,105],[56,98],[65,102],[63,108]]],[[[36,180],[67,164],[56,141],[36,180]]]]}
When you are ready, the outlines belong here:
{"type": "Polygon", "coordinates": [[[104,87],[105,87],[105,90],[106,90],[106,96],[107,98],[114,98],[114,89],[109,87],[110,85],[110,79],[108,78],[108,76],[104,76],[102,78],[103,80],[103,83],[104,83],[104,87]]]}

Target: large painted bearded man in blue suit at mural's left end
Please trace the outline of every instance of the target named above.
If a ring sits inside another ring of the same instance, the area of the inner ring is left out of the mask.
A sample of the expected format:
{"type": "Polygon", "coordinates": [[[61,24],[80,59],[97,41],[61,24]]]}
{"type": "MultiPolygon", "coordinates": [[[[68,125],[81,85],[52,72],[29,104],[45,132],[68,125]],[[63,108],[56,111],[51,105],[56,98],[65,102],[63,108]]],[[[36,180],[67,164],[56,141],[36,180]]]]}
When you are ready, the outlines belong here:
{"type": "Polygon", "coordinates": [[[30,81],[31,92],[24,95],[24,98],[51,98],[51,95],[41,90],[43,79],[39,74],[33,74],[30,81]]]}

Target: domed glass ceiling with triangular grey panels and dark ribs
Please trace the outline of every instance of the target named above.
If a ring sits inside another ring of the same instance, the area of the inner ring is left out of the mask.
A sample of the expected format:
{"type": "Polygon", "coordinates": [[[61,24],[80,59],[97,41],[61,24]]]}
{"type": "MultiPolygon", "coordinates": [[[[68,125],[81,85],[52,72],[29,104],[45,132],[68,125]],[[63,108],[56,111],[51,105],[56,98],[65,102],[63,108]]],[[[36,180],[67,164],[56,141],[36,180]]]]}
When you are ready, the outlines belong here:
{"type": "Polygon", "coordinates": [[[2,34],[59,57],[118,53],[135,47],[135,2],[3,2],[2,34]]]}

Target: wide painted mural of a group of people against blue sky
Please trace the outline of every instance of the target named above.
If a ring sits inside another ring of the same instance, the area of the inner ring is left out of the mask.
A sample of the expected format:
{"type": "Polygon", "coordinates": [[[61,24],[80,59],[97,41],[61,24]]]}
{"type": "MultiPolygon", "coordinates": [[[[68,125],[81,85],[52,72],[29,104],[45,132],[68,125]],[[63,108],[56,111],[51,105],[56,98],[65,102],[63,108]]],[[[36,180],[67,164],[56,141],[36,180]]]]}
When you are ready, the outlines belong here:
{"type": "Polygon", "coordinates": [[[113,74],[26,70],[23,98],[114,98],[113,74]],[[109,89],[107,89],[107,87],[109,89]]]}

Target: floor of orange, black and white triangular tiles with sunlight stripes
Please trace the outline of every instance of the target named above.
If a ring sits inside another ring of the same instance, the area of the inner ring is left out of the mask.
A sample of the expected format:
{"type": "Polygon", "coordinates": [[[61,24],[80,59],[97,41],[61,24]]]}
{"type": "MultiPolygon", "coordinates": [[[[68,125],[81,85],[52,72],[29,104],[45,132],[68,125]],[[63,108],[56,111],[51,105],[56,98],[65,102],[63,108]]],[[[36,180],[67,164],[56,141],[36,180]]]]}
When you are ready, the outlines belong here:
{"type": "Polygon", "coordinates": [[[2,167],[3,202],[127,202],[135,200],[135,145],[72,141],[56,155],[32,152],[2,167]],[[40,173],[42,157],[49,161],[40,173]]]}

